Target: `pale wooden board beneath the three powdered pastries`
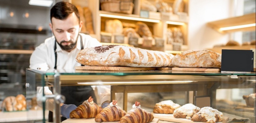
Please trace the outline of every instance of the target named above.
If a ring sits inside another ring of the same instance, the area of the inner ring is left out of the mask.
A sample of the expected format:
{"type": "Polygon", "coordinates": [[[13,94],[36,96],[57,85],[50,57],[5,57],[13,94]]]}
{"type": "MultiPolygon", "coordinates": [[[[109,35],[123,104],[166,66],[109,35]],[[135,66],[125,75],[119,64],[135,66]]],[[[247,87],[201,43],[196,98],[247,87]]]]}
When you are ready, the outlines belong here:
{"type": "MultiPolygon", "coordinates": [[[[205,123],[205,122],[194,122],[185,118],[175,118],[173,114],[161,114],[161,113],[153,113],[155,118],[158,118],[162,121],[171,121],[177,123],[205,123]]],[[[217,122],[217,123],[226,123],[229,120],[229,117],[224,117],[225,121],[217,122]]]]}

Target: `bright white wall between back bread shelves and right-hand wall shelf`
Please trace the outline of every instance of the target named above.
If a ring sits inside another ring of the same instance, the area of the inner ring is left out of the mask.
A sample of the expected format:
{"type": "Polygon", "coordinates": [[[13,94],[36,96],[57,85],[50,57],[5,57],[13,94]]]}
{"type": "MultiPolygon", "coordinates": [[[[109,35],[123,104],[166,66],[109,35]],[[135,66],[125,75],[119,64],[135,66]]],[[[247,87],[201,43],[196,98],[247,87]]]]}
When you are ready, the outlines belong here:
{"type": "Polygon", "coordinates": [[[188,45],[190,50],[209,49],[229,41],[229,34],[220,34],[207,22],[233,16],[233,0],[190,0],[188,45]]]}

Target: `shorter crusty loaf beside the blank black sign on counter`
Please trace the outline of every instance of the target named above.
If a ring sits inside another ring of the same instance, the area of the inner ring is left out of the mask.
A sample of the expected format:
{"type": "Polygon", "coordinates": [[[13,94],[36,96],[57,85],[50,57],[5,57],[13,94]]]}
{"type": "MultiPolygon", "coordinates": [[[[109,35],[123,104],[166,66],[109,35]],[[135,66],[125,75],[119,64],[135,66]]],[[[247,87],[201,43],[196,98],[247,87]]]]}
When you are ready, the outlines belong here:
{"type": "Polygon", "coordinates": [[[172,59],[176,67],[220,68],[221,54],[210,50],[187,50],[172,59]]]}

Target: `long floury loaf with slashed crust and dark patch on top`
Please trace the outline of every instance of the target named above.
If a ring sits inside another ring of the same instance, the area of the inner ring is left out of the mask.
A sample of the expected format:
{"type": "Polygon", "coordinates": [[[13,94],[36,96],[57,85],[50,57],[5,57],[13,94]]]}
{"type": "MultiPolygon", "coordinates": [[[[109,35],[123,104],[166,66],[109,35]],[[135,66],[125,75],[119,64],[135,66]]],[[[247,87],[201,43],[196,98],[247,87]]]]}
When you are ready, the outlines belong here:
{"type": "Polygon", "coordinates": [[[121,45],[85,48],[76,61],[89,66],[171,67],[172,54],[121,45]]]}

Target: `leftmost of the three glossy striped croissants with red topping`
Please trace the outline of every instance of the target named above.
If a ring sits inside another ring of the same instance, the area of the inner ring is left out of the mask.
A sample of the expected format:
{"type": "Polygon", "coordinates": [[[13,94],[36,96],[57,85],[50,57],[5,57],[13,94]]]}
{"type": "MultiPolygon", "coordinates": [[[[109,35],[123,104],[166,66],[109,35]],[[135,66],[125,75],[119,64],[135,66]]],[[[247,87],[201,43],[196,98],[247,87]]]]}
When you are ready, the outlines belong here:
{"type": "Polygon", "coordinates": [[[89,97],[84,101],[82,105],[79,105],[75,110],[69,114],[70,118],[93,118],[102,110],[96,103],[93,102],[93,98],[89,97]]]}

